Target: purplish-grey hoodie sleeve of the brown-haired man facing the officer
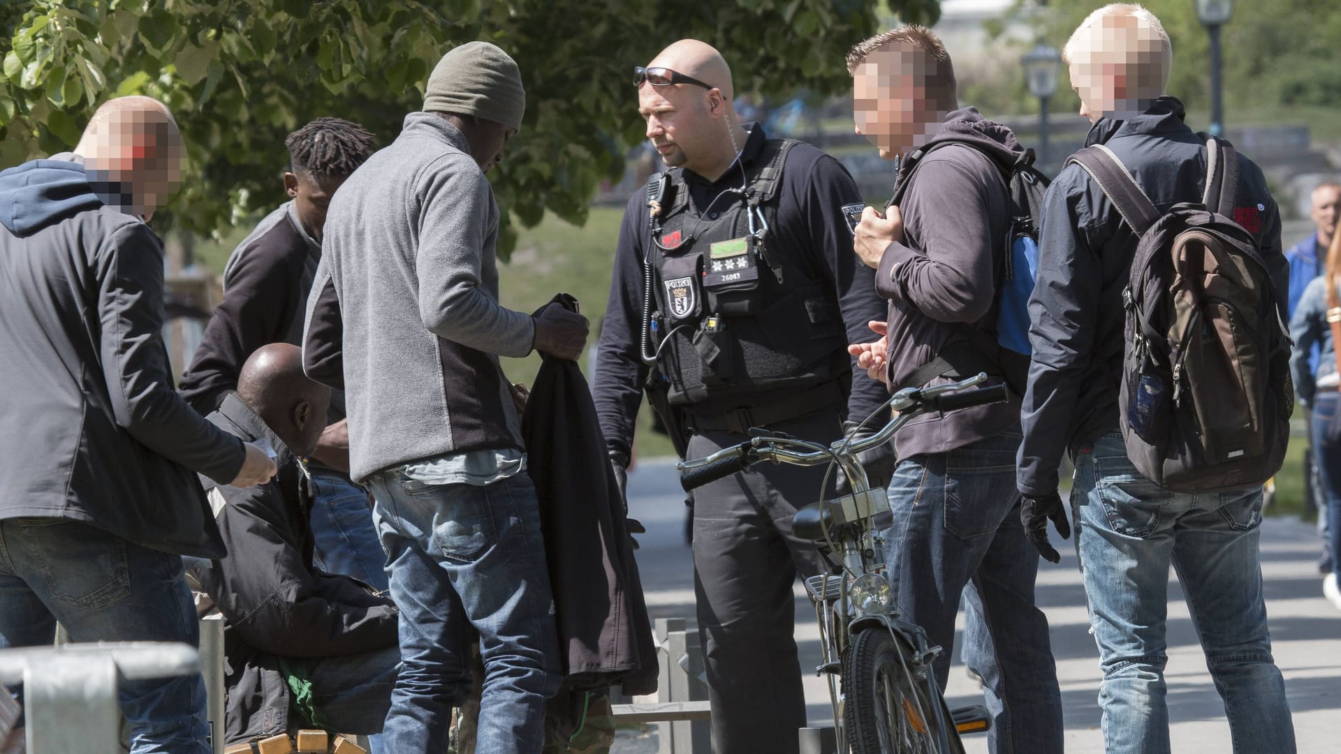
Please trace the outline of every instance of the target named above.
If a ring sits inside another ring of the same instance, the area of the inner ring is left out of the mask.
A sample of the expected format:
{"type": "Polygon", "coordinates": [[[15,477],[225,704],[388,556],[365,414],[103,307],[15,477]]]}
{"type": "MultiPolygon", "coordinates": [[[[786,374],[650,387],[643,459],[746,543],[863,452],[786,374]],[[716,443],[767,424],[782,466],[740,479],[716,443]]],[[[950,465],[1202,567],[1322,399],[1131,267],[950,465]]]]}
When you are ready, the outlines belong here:
{"type": "Polygon", "coordinates": [[[905,204],[919,217],[917,246],[925,254],[901,243],[885,247],[876,290],[939,322],[976,322],[995,297],[992,229],[986,219],[966,219],[953,208],[988,207],[987,186],[980,176],[940,154],[928,156],[920,170],[919,177],[933,172],[936,180],[917,181],[905,204]]]}

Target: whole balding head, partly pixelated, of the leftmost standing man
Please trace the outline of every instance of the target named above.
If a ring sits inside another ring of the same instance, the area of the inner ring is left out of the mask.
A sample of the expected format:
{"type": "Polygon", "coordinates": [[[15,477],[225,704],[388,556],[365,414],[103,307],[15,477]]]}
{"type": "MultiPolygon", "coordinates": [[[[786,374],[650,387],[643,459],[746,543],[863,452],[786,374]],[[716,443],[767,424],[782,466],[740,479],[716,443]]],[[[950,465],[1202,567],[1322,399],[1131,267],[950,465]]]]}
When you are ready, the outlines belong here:
{"type": "Polygon", "coordinates": [[[181,184],[184,153],[177,121],[166,105],[150,97],[103,102],[75,154],[83,157],[89,180],[105,203],[145,219],[181,184]]]}

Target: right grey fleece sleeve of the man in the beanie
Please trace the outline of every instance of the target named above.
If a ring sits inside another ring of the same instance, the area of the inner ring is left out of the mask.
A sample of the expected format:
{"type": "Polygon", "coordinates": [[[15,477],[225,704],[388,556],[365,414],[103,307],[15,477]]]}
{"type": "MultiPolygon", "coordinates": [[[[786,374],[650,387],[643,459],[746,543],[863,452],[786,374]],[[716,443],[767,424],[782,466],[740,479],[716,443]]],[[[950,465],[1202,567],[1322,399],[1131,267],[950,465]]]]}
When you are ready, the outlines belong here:
{"type": "Polygon", "coordinates": [[[416,195],[420,317],[434,335],[484,353],[531,353],[535,323],[499,305],[483,287],[498,279],[493,244],[498,207],[484,173],[461,156],[447,156],[420,178],[416,195]]]}

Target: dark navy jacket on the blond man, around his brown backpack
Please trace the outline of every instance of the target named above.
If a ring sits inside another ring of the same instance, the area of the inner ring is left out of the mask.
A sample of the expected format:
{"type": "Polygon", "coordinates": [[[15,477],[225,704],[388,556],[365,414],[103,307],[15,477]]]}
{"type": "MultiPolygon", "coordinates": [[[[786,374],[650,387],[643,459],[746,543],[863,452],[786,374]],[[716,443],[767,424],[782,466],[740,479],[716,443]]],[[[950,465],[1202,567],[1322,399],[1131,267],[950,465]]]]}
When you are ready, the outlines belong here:
{"type": "MultiPolygon", "coordinates": [[[[1183,103],[1176,98],[1161,97],[1126,121],[1100,118],[1085,140],[1085,146],[1094,144],[1113,150],[1160,212],[1202,200],[1206,142],[1183,122],[1183,103]]],[[[1234,220],[1258,239],[1283,318],[1290,271],[1281,254],[1281,213],[1262,169],[1243,154],[1234,220]]],[[[1029,302],[1034,354],[1018,462],[1025,495],[1054,492],[1062,453],[1118,428],[1122,288],[1136,243],[1089,173],[1067,165],[1057,174],[1043,201],[1038,279],[1029,302]]]]}

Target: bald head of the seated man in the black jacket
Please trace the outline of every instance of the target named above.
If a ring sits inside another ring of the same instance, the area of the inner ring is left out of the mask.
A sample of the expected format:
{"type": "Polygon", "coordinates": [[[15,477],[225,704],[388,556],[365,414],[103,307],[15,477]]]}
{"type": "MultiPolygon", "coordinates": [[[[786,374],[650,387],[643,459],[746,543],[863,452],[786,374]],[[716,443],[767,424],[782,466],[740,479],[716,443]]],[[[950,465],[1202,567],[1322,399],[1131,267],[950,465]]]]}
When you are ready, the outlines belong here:
{"type": "Polygon", "coordinates": [[[237,376],[237,397],[295,455],[316,448],[326,428],[331,390],[303,374],[303,352],[290,343],[261,346],[237,376]]]}

